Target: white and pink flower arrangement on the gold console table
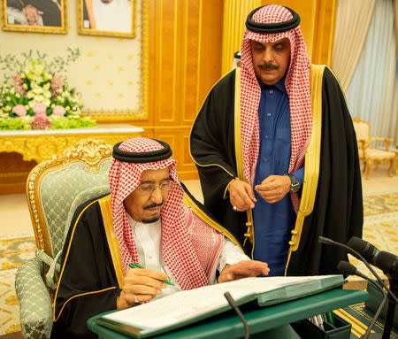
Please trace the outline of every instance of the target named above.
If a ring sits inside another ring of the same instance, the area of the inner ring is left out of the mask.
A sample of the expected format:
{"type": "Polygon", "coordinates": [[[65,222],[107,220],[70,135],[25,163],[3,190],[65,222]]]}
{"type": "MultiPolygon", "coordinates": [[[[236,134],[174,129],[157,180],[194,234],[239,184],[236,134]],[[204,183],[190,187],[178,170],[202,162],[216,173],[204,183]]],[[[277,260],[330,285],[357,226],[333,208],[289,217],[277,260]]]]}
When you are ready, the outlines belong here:
{"type": "Polygon", "coordinates": [[[70,87],[61,74],[70,62],[80,56],[80,50],[68,49],[66,58],[47,61],[47,55],[36,50],[0,56],[0,65],[8,70],[0,84],[0,130],[57,129],[96,126],[96,121],[81,117],[81,95],[70,87]]]}

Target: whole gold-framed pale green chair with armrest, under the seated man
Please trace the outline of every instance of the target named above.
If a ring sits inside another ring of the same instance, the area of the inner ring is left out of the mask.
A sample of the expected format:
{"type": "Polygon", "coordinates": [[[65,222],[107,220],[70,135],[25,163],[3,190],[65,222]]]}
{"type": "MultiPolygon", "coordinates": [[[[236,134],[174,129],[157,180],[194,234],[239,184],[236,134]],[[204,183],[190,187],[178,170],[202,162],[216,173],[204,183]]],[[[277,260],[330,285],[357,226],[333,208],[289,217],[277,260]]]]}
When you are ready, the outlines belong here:
{"type": "Polygon", "coordinates": [[[27,178],[27,202],[34,226],[36,257],[15,278],[20,325],[26,338],[49,338],[58,259],[77,206],[109,193],[112,146],[87,139],[34,167],[27,178]]]}

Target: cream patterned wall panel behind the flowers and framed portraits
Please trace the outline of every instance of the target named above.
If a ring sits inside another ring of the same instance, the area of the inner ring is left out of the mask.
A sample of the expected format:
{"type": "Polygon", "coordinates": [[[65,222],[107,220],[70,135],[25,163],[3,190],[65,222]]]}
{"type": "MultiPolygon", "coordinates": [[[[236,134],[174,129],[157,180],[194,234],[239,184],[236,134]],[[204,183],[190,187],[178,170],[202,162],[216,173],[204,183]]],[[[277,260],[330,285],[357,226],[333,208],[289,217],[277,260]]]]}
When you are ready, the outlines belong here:
{"type": "MultiPolygon", "coordinates": [[[[136,37],[78,35],[77,1],[67,2],[66,35],[5,32],[0,30],[0,54],[40,50],[50,58],[64,57],[79,48],[80,58],[69,67],[68,81],[82,94],[91,112],[141,112],[142,2],[135,1],[136,37]]],[[[2,80],[2,76],[0,80],[2,80]]]]}

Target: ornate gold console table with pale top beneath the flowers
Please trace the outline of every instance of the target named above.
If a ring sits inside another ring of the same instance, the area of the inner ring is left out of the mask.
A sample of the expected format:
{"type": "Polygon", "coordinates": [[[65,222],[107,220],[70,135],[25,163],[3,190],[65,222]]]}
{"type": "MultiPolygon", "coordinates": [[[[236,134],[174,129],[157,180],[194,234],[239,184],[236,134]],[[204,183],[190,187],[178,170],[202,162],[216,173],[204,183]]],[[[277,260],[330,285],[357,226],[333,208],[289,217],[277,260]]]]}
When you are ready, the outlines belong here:
{"type": "Polygon", "coordinates": [[[111,145],[143,132],[132,125],[98,125],[87,128],[0,131],[0,153],[17,152],[25,161],[41,163],[61,154],[74,143],[86,138],[101,139],[111,145]]]}

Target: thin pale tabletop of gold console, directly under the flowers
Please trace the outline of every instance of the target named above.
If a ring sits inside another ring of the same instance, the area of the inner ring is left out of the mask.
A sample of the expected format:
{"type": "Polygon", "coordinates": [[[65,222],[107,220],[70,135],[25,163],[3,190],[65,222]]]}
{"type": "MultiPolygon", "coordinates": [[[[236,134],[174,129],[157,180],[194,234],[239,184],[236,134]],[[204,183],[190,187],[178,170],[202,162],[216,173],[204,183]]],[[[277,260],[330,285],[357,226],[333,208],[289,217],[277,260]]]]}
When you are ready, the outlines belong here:
{"type": "Polygon", "coordinates": [[[0,131],[1,136],[11,135],[81,135],[81,134],[101,134],[101,133],[141,133],[143,132],[142,127],[136,127],[128,124],[103,124],[95,127],[85,128],[67,128],[67,129],[31,129],[31,130],[11,130],[11,131],[0,131]]]}

